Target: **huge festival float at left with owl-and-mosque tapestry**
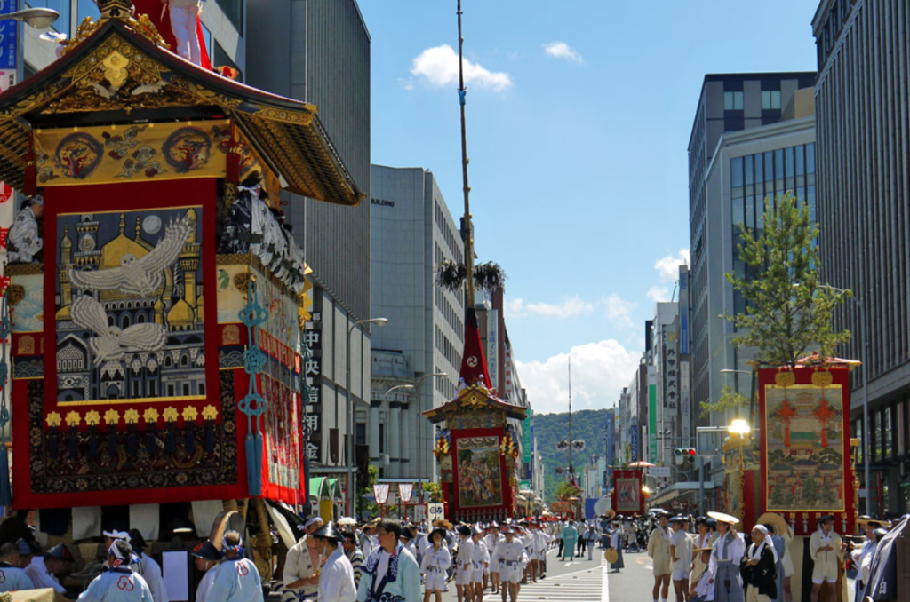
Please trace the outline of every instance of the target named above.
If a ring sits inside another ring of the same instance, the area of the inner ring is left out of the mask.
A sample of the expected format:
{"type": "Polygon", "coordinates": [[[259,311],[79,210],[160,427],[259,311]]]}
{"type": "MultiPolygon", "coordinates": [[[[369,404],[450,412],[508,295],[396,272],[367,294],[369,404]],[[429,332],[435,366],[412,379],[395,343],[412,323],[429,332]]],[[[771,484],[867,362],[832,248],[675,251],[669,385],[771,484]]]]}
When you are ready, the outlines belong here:
{"type": "Polygon", "coordinates": [[[0,180],[44,199],[43,251],[5,266],[0,503],[232,500],[269,534],[309,501],[308,267],[279,196],[363,195],[316,106],[180,58],[129,0],[98,4],[0,95],[0,180]]]}

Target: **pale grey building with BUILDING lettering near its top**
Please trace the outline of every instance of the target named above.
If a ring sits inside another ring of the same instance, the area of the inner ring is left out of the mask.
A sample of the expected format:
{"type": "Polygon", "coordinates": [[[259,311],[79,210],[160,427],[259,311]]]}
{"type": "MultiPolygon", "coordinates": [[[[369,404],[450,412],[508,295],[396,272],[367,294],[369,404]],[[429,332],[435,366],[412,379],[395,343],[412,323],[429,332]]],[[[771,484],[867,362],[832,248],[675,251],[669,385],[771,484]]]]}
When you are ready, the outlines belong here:
{"type": "Polygon", "coordinates": [[[370,460],[389,455],[383,477],[432,479],[435,431],[421,413],[455,396],[464,347],[464,293],[437,286],[435,267],[462,261],[464,246],[430,171],[372,166],[371,181],[370,311],[389,326],[373,333],[369,416],[358,423],[369,423],[370,460]],[[387,399],[399,385],[416,389],[387,399]]]}

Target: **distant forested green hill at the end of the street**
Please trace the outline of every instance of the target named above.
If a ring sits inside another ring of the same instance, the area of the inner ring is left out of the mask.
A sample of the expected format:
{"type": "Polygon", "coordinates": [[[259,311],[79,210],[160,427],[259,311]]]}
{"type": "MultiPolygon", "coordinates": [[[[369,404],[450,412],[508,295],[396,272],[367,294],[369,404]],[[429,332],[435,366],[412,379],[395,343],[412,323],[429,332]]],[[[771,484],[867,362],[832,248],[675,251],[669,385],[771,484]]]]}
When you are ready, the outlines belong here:
{"type": "MultiPolygon", "coordinates": [[[[582,474],[581,471],[591,456],[603,455],[603,432],[606,427],[606,409],[572,412],[571,436],[585,442],[583,451],[572,452],[571,463],[576,475],[582,474]]],[[[544,497],[549,504],[553,501],[553,490],[562,478],[556,474],[556,467],[568,465],[568,454],[557,451],[556,444],[569,437],[569,413],[535,415],[534,436],[537,437],[537,453],[543,462],[544,497]]]]}

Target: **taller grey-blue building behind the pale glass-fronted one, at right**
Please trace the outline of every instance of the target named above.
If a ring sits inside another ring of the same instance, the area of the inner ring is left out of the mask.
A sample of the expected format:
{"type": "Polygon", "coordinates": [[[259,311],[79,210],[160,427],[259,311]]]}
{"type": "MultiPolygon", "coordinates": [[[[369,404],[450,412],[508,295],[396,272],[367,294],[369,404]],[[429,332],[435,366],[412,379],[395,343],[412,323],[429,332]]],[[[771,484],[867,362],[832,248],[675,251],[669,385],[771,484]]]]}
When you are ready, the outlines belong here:
{"type": "MultiPolygon", "coordinates": [[[[730,219],[723,219],[720,189],[711,188],[708,175],[722,138],[780,121],[797,89],[814,85],[815,74],[766,73],[705,75],[695,108],[689,138],[689,240],[692,255],[690,298],[693,356],[693,399],[715,400],[720,376],[713,355],[718,347],[716,332],[723,311],[717,303],[723,287],[724,249],[733,236],[730,219]],[[718,279],[720,278],[720,280],[718,279]]],[[[781,146],[783,148],[783,146],[781,146]]],[[[783,158],[782,158],[783,160],[783,158]]],[[[776,176],[776,174],[775,174],[776,176]]],[[[729,180],[715,180],[729,183],[729,180]]],[[[783,182],[782,182],[783,186],[783,182]]],[[[776,188],[773,188],[777,192],[776,188]]],[[[730,271],[729,268],[727,271],[730,271]]],[[[727,367],[727,366],[723,366],[727,367]]],[[[733,367],[733,366],[731,366],[733,367]]]]}

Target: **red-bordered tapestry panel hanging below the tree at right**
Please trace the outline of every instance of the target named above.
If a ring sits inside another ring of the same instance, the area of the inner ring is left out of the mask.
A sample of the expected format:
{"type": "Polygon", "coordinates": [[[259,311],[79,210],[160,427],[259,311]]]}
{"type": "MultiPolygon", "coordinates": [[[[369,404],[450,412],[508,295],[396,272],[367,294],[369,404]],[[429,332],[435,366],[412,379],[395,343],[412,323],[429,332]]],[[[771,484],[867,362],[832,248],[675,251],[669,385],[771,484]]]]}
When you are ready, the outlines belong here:
{"type": "Polygon", "coordinates": [[[782,514],[796,535],[825,514],[852,533],[849,366],[809,366],[759,370],[760,511],[782,514]]]}

